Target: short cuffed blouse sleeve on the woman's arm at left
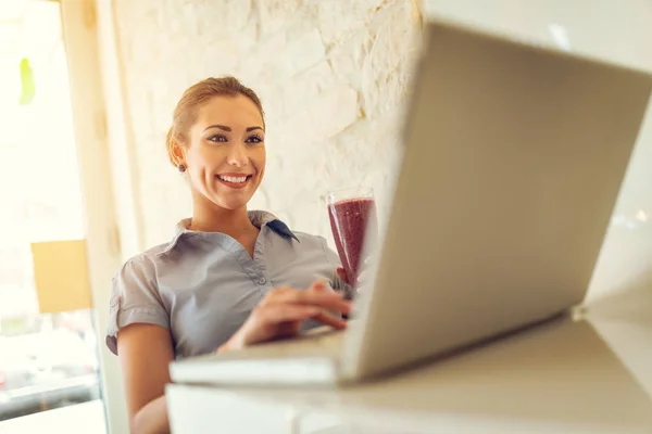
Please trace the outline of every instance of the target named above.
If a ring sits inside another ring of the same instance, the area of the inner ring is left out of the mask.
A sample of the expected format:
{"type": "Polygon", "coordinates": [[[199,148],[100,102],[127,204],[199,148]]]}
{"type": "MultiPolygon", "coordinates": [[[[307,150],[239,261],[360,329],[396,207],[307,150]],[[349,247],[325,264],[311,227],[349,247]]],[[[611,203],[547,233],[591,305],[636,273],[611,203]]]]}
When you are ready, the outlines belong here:
{"type": "Polygon", "coordinates": [[[141,255],[127,260],[111,284],[106,346],[113,354],[117,355],[117,332],[124,327],[147,323],[170,329],[170,315],[148,258],[141,255]]]}

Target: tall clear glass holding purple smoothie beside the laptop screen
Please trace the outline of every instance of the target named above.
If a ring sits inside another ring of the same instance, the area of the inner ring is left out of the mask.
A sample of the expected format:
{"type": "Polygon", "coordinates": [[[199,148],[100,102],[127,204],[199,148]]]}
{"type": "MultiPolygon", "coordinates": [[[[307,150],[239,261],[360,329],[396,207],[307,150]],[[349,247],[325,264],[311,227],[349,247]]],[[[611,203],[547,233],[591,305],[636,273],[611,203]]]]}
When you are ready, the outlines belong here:
{"type": "Polygon", "coordinates": [[[366,237],[377,235],[376,202],[368,187],[329,191],[326,194],[330,229],[347,280],[358,285],[366,237]]]}

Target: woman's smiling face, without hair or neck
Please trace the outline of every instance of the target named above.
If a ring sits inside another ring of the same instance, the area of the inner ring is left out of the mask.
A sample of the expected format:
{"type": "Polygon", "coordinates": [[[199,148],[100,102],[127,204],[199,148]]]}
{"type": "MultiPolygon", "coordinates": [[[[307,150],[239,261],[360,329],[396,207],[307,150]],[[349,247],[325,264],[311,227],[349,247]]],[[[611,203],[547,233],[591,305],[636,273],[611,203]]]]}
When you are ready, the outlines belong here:
{"type": "Polygon", "coordinates": [[[265,173],[265,130],[247,97],[214,97],[198,113],[184,149],[196,193],[225,209],[246,206],[265,173]]]}

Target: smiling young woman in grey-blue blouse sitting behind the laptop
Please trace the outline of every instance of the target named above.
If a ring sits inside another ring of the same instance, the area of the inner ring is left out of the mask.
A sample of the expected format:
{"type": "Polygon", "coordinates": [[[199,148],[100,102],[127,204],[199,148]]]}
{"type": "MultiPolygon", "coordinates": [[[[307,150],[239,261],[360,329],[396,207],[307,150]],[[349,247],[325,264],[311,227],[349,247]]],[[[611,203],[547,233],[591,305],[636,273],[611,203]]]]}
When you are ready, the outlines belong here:
{"type": "MultiPolygon", "coordinates": [[[[118,355],[133,433],[168,432],[164,386],[175,358],[228,352],[326,324],[346,327],[348,290],[324,239],[248,210],[265,174],[261,101],[236,78],[181,97],[167,153],[192,194],[175,237],[113,279],[106,344],[118,355]]],[[[218,423],[218,421],[216,421],[218,423]]]]}

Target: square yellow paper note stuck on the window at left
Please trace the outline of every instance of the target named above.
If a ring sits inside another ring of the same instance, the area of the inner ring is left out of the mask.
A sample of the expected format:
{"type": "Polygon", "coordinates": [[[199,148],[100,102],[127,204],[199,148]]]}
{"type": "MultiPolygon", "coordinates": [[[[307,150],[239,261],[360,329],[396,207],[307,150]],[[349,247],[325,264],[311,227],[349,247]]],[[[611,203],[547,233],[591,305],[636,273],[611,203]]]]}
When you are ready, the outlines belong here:
{"type": "Polygon", "coordinates": [[[85,240],[33,243],[32,257],[41,314],[92,307],[85,240]]]}

